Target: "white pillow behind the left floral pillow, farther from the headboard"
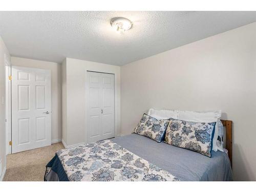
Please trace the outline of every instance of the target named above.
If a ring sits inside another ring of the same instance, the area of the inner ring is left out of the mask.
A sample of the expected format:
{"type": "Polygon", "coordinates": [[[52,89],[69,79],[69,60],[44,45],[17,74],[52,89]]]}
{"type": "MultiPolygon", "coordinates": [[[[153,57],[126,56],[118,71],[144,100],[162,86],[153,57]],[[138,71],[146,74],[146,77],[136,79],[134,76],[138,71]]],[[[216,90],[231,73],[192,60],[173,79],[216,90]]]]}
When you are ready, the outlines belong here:
{"type": "Polygon", "coordinates": [[[162,119],[178,119],[178,111],[176,110],[154,110],[150,109],[148,110],[147,115],[150,115],[151,117],[154,117],[158,120],[162,119]]]}

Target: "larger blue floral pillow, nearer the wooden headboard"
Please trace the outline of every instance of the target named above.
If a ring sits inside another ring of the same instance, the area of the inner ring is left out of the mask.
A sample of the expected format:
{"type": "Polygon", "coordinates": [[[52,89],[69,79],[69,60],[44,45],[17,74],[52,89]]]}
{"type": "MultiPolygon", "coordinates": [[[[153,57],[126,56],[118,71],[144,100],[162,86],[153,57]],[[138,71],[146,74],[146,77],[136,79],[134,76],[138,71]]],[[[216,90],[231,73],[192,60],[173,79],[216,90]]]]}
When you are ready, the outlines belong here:
{"type": "Polygon", "coordinates": [[[211,157],[215,124],[170,118],[164,142],[211,157]]]}

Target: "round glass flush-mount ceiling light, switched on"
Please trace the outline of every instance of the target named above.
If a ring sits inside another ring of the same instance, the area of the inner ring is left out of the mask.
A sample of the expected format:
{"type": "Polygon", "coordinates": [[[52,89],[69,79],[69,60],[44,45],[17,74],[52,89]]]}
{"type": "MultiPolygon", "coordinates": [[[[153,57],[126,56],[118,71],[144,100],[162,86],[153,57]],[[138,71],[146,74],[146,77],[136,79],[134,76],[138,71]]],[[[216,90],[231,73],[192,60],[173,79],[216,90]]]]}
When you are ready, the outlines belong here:
{"type": "Polygon", "coordinates": [[[131,20],[124,17],[112,18],[110,24],[118,33],[123,33],[133,27],[131,20]]]}

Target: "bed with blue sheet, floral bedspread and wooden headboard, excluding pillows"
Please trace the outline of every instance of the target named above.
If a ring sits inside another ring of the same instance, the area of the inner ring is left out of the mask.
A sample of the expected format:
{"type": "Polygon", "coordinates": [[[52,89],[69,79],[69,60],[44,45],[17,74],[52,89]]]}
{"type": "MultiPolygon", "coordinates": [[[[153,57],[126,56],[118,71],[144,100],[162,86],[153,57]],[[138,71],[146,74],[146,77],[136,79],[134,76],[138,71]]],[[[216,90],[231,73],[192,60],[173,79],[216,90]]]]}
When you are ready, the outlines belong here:
{"type": "Polygon", "coordinates": [[[45,181],[232,181],[232,122],[222,123],[228,153],[209,158],[131,134],[57,152],[45,181]]]}

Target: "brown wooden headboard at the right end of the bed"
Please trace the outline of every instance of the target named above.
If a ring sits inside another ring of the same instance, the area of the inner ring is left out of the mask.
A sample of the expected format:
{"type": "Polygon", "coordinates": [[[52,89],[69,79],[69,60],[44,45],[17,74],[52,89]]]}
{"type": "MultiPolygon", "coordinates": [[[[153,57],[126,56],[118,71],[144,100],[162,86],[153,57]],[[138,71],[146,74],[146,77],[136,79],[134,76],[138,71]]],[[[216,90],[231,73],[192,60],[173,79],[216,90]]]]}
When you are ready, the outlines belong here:
{"type": "Polygon", "coordinates": [[[226,127],[226,146],[225,148],[228,151],[228,157],[232,166],[232,121],[230,120],[221,120],[223,126],[226,127]]]}

